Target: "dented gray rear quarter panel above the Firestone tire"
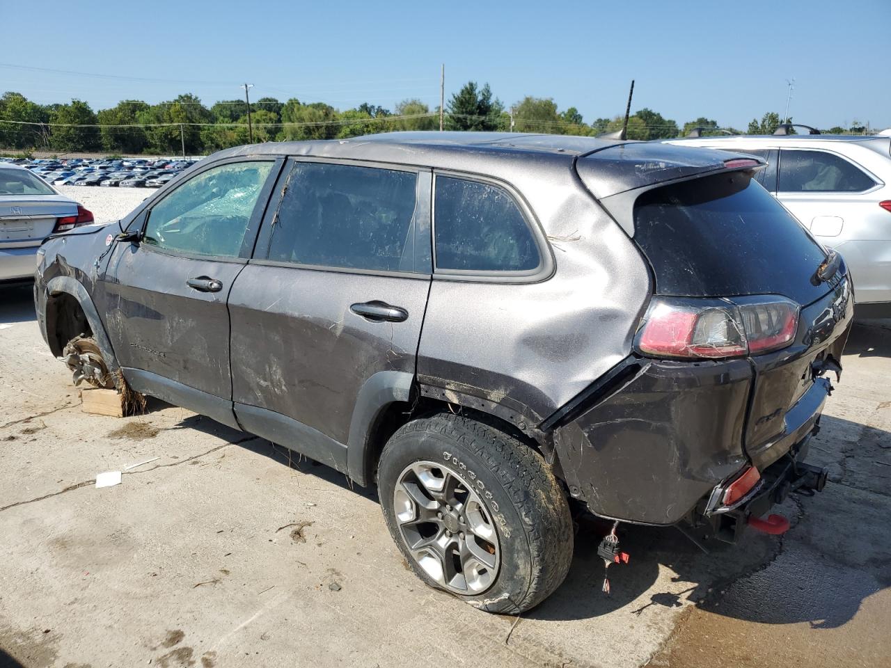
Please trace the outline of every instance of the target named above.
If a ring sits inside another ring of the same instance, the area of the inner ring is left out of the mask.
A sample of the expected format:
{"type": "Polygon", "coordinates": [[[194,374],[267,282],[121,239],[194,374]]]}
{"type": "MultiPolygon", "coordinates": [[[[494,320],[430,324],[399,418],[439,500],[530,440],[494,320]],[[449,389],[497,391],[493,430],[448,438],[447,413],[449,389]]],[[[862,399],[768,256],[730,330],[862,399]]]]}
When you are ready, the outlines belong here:
{"type": "Polygon", "coordinates": [[[569,159],[508,164],[486,174],[525,198],[544,228],[555,270],[536,282],[434,278],[418,376],[422,387],[444,388],[441,398],[486,410],[497,404],[527,429],[631,352],[650,276],[569,159]]]}

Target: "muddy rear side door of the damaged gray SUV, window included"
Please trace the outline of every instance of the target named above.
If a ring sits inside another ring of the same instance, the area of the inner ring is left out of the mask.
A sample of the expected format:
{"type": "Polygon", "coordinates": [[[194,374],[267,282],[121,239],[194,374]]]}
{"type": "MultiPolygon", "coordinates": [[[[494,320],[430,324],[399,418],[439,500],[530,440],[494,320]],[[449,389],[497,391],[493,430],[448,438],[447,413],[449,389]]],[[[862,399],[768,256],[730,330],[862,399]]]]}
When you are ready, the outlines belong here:
{"type": "Polygon", "coordinates": [[[430,173],[302,159],[285,171],[229,296],[235,413],[249,431],[345,470],[363,388],[380,374],[414,375],[430,173]]]}

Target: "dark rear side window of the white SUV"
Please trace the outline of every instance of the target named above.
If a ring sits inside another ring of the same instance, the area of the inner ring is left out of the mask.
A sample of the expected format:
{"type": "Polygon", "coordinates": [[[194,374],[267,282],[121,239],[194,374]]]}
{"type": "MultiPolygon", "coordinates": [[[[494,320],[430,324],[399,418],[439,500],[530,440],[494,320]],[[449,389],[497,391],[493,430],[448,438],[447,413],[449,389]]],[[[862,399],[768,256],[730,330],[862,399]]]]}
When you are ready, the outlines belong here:
{"type": "Polygon", "coordinates": [[[875,184],[862,169],[834,153],[781,150],[780,192],[862,192],[875,184]]]}

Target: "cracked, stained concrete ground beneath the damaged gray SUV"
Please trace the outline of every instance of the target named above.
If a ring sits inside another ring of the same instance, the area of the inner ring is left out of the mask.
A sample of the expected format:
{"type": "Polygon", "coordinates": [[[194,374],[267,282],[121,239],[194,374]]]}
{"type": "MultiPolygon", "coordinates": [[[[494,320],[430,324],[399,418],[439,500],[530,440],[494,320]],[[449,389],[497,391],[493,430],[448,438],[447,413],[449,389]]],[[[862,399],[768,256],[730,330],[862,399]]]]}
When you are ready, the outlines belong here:
{"type": "Polygon", "coordinates": [[[0,666],[891,665],[891,324],[854,328],[812,451],[833,484],[788,534],[706,556],[629,527],[606,598],[582,522],[519,621],[423,586],[331,469],[162,403],[80,411],[28,289],[0,292],[0,343],[0,666]]]}

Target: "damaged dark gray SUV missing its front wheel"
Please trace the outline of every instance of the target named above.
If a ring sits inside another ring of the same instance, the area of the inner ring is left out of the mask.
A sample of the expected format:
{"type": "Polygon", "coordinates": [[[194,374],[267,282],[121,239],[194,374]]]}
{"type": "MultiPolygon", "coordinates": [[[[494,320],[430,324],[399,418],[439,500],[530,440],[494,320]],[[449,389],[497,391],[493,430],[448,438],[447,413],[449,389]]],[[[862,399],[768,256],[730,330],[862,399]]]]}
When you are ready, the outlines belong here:
{"type": "MultiPolygon", "coordinates": [[[[44,338],[377,485],[424,582],[518,614],[570,502],[736,541],[805,463],[853,314],[844,261],[751,156],[534,134],[264,143],[45,241],[44,338]]],[[[396,566],[394,566],[396,567],[396,566]]]]}

